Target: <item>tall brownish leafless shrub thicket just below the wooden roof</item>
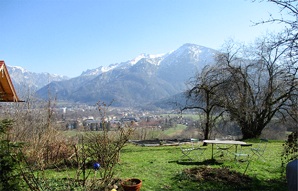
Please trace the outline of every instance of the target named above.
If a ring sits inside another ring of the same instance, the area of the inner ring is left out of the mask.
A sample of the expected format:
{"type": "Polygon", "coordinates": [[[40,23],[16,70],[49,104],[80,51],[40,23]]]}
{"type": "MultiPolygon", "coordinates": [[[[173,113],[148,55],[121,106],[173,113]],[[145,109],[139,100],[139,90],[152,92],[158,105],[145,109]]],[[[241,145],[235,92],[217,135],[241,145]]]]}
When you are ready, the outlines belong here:
{"type": "Polygon", "coordinates": [[[45,167],[67,161],[71,153],[69,138],[59,131],[56,123],[56,97],[49,91],[49,99],[42,100],[36,90],[22,87],[19,97],[25,102],[3,105],[1,117],[12,119],[9,137],[23,142],[23,153],[30,165],[41,171],[45,167]]]}

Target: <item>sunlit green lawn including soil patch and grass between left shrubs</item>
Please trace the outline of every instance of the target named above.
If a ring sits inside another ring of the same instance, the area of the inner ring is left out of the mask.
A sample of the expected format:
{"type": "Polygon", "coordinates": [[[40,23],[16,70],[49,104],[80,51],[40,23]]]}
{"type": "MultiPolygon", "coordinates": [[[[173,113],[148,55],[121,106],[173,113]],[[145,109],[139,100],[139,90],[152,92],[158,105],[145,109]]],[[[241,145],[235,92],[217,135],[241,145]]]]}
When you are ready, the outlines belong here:
{"type": "MultiPolygon", "coordinates": [[[[246,140],[257,147],[258,140],[246,140]]],[[[287,191],[285,178],[281,178],[281,151],[284,141],[269,140],[265,151],[266,162],[253,157],[244,173],[246,163],[239,168],[234,156],[215,155],[211,160],[212,145],[206,148],[205,157],[195,158],[192,162],[184,159],[179,146],[145,147],[129,143],[121,150],[120,162],[115,166],[115,179],[137,178],[142,180],[141,191],[287,191]],[[203,177],[196,177],[195,169],[203,169],[203,177]],[[225,173],[225,174],[224,174],[225,173]],[[228,180],[226,179],[228,178],[228,180]]],[[[215,149],[216,150],[216,149],[215,149]]],[[[231,152],[234,151],[232,148],[231,152]]],[[[89,176],[94,178],[92,167],[89,176]]],[[[68,190],[66,177],[74,178],[75,171],[47,170],[47,178],[53,182],[53,190],[68,190]],[[61,185],[61,186],[59,186],[61,185]],[[58,188],[59,187],[59,188],[58,188]]],[[[100,172],[96,178],[100,179],[100,172]]],[[[74,186],[71,191],[87,191],[87,188],[74,186]]],[[[52,190],[51,190],[52,191],[52,190]]]]}

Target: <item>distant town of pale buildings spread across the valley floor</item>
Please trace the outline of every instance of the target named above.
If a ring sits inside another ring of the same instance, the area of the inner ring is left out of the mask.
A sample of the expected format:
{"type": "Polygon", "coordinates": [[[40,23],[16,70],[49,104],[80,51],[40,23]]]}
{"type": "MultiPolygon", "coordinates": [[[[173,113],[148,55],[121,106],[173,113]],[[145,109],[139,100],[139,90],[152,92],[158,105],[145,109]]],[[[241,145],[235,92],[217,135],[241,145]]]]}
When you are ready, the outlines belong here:
{"type": "MultiPolygon", "coordinates": [[[[191,113],[191,112],[189,112],[191,113]]],[[[109,130],[125,123],[134,122],[134,127],[165,130],[177,124],[188,125],[191,117],[182,117],[171,111],[143,111],[133,108],[109,108],[106,116],[100,116],[96,107],[60,107],[56,109],[58,123],[65,129],[95,131],[102,128],[102,121],[107,122],[109,130]]]]}

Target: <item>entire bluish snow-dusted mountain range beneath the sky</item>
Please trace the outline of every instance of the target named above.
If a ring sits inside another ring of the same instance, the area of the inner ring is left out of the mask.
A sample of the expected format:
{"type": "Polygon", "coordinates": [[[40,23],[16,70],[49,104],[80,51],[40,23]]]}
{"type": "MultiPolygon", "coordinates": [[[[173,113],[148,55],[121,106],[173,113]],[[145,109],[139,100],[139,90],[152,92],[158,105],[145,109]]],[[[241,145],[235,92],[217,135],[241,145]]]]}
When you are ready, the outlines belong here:
{"type": "Polygon", "coordinates": [[[42,97],[47,97],[50,87],[58,101],[94,105],[99,100],[109,103],[116,99],[114,106],[137,107],[160,104],[158,100],[181,93],[197,69],[213,62],[215,53],[214,49],[188,43],[166,54],[141,54],[127,62],[87,70],[71,79],[47,73],[25,77],[25,72],[16,73],[16,69],[8,72],[13,83],[31,79],[30,83],[39,88],[49,82],[37,91],[42,97]]]}

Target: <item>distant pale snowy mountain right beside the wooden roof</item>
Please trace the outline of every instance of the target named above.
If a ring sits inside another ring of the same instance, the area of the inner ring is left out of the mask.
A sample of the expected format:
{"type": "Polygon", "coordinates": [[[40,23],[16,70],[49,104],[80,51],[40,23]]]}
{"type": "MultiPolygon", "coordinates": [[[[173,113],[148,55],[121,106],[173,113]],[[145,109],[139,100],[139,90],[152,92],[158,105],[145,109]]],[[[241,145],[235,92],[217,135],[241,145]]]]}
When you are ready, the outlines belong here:
{"type": "Polygon", "coordinates": [[[27,71],[18,66],[6,65],[6,67],[7,67],[8,74],[11,78],[12,84],[16,90],[20,85],[34,87],[36,88],[36,90],[38,90],[53,81],[62,81],[62,80],[70,79],[67,76],[49,74],[45,72],[37,74],[34,72],[27,71]]]}

